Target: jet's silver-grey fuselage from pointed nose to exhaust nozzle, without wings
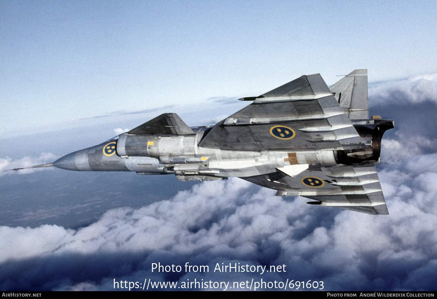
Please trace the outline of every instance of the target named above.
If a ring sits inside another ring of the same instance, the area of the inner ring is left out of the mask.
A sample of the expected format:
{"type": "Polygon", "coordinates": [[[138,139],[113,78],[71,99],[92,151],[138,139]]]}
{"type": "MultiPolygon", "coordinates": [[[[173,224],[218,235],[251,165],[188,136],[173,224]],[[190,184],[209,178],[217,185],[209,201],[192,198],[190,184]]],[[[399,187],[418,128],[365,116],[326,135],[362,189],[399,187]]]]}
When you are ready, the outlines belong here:
{"type": "MultiPolygon", "coordinates": [[[[75,171],[130,171],[138,174],[175,174],[186,180],[250,177],[276,172],[291,164],[329,167],[338,164],[375,162],[379,158],[380,140],[387,126],[357,123],[355,127],[366,151],[307,150],[238,151],[203,148],[198,144],[211,127],[191,127],[194,135],[156,136],[123,133],[96,146],[75,151],[53,163],[53,166],[75,171]],[[295,157],[290,161],[290,154],[295,157]],[[361,156],[360,156],[361,155],[361,156]],[[186,177],[185,177],[186,176],[186,177]],[[189,179],[191,178],[191,179],[189,179]]],[[[178,177],[179,179],[179,177],[178,177]]]]}

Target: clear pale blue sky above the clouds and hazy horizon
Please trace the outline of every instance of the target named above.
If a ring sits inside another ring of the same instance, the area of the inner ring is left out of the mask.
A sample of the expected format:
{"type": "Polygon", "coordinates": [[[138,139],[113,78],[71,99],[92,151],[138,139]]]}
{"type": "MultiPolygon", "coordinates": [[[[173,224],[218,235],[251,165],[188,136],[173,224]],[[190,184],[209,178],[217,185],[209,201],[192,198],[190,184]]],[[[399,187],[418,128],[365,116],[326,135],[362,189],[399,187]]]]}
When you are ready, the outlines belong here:
{"type": "Polygon", "coordinates": [[[0,11],[0,137],[258,95],[302,74],[330,85],[353,69],[379,81],[437,65],[435,1],[1,1],[0,11]]]}

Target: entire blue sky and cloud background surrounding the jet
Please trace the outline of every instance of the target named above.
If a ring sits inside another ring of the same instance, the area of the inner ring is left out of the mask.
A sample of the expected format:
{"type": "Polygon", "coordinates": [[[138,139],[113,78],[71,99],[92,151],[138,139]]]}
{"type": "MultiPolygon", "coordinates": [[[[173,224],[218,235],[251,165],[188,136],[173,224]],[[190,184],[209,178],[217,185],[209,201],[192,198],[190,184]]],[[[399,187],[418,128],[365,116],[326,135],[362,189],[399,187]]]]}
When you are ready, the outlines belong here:
{"type": "Polygon", "coordinates": [[[378,174],[388,216],[281,198],[241,179],[0,172],[0,290],[113,290],[151,263],[288,265],[265,280],[436,290],[435,1],[0,1],[0,170],[53,162],[164,112],[215,124],[303,74],[368,69],[395,120],[378,174]],[[90,266],[91,265],[91,266],[90,266]]]}

